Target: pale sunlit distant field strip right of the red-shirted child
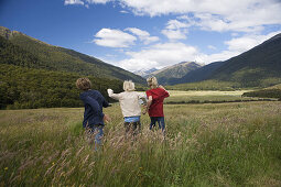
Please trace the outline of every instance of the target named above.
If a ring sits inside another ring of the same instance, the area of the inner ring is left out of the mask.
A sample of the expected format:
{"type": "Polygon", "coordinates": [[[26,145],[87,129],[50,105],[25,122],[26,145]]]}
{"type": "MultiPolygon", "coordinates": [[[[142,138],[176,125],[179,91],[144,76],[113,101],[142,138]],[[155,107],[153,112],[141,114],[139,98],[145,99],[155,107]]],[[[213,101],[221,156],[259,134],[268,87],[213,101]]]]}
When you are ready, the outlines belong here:
{"type": "Polygon", "coordinates": [[[170,97],[165,99],[170,102],[213,102],[213,101],[247,101],[258,100],[259,98],[241,97],[241,95],[250,90],[237,91],[177,91],[171,90],[170,97]]]}

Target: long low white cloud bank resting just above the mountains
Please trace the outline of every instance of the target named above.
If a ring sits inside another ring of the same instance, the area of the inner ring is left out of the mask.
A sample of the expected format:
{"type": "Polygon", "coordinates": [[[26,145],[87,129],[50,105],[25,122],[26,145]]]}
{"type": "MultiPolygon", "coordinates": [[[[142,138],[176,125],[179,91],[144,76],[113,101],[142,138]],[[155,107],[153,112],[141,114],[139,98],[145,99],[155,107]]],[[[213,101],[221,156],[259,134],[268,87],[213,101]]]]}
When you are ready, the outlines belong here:
{"type": "MultiPolygon", "coordinates": [[[[225,42],[227,50],[210,55],[203,54],[196,47],[180,42],[154,44],[139,52],[125,52],[128,55],[128,58],[120,62],[114,62],[112,64],[127,70],[136,72],[152,67],[163,68],[184,61],[196,61],[203,64],[227,61],[249,51],[280,32],[281,31],[277,31],[267,35],[252,34],[235,37],[225,42]]],[[[209,47],[215,48],[213,45],[209,45],[209,47]]]]}

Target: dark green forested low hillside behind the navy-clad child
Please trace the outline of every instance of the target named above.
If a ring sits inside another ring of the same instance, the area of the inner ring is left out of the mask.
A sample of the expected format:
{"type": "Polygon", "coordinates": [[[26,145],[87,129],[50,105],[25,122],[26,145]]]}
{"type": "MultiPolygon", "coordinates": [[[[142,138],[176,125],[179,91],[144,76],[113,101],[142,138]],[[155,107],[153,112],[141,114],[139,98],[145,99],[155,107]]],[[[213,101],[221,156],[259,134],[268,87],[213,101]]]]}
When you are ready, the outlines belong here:
{"type": "MultiPolygon", "coordinates": [[[[28,109],[53,107],[82,107],[74,73],[51,72],[14,65],[0,66],[0,108],[28,109]]],[[[88,76],[93,89],[109,100],[106,89],[122,90],[122,81],[88,76]]]]}

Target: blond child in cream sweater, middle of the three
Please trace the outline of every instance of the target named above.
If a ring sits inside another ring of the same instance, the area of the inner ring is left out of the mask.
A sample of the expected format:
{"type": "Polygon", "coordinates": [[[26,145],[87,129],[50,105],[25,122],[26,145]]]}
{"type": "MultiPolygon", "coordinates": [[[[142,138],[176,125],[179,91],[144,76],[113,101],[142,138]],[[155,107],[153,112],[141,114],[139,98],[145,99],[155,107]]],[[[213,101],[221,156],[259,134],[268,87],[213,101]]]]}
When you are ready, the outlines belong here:
{"type": "Polygon", "coordinates": [[[141,108],[139,99],[142,99],[142,101],[147,103],[145,95],[134,91],[134,84],[131,80],[126,80],[123,82],[123,92],[114,94],[114,90],[108,89],[107,92],[110,98],[119,100],[120,102],[126,132],[132,131],[133,135],[136,135],[141,129],[141,108]],[[138,131],[136,131],[137,128],[138,131]]]}

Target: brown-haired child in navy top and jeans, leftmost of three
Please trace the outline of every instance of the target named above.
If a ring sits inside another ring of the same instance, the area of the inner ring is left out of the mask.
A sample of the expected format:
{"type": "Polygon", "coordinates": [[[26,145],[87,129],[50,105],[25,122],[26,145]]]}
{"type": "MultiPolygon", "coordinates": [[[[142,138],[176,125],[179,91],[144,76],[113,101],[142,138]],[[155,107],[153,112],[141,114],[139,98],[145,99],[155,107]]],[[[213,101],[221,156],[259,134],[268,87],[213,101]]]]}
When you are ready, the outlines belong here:
{"type": "Polygon", "coordinates": [[[80,100],[85,106],[83,128],[90,134],[97,133],[95,135],[95,150],[97,150],[104,135],[104,121],[108,122],[110,120],[107,114],[102,113],[102,107],[109,105],[99,91],[90,89],[91,82],[88,78],[78,78],[76,87],[83,90],[80,94],[80,100]]]}

